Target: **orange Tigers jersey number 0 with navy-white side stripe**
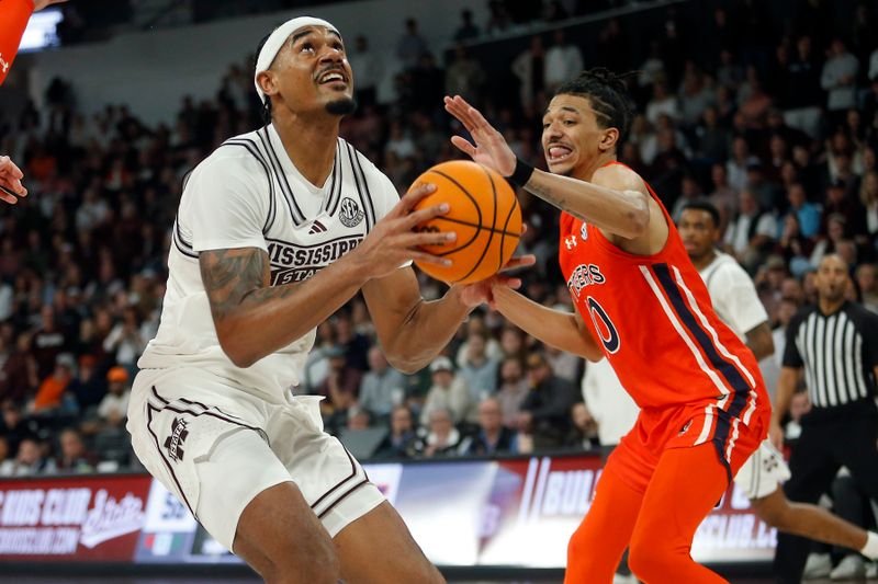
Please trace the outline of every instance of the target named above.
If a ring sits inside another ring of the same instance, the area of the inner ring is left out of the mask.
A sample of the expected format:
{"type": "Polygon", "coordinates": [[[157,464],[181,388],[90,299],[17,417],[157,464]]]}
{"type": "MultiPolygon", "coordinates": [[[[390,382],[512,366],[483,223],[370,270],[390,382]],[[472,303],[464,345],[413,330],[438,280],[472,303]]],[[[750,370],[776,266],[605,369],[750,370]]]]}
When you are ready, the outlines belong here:
{"type": "Polygon", "coordinates": [[[561,215],[559,261],[576,309],[638,405],[703,412],[694,444],[724,442],[754,415],[767,428],[770,403],[756,359],[713,312],[674,221],[646,187],[668,226],[654,255],[627,253],[598,228],[561,215]]]}

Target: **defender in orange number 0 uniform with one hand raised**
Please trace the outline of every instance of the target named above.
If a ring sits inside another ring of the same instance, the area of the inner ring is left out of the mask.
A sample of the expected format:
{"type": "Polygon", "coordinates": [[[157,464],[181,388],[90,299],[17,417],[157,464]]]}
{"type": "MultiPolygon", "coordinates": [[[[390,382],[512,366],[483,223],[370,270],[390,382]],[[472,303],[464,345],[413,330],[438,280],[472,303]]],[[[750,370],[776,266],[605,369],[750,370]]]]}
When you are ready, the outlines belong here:
{"type": "Polygon", "coordinates": [[[770,406],[756,359],[711,308],[667,210],[616,161],[629,103],[606,69],[562,84],[543,115],[542,172],[517,161],[463,99],[446,98],[474,142],[454,136],[458,148],[562,209],[560,263],[576,312],[496,279],[465,299],[487,301],[547,344],[606,356],[641,408],[571,538],[565,582],[611,582],[629,546],[631,571],[650,584],[725,582],[693,561],[693,536],[765,438],[770,406]]]}

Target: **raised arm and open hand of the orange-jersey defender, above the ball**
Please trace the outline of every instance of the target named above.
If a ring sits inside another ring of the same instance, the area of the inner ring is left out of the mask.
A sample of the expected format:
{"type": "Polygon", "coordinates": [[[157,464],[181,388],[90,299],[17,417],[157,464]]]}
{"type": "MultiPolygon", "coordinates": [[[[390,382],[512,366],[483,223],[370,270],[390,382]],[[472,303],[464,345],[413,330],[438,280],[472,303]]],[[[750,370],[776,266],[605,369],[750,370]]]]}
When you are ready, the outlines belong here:
{"type": "MultiPolygon", "coordinates": [[[[503,135],[460,95],[447,96],[444,104],[475,144],[461,136],[453,136],[451,142],[480,164],[511,176],[516,156],[503,135]]],[[[637,173],[630,170],[628,173],[630,176],[614,169],[596,173],[593,182],[585,182],[536,170],[525,190],[608,233],[634,239],[648,233],[651,217],[655,210],[661,215],[661,209],[651,204],[652,197],[637,173]]]]}

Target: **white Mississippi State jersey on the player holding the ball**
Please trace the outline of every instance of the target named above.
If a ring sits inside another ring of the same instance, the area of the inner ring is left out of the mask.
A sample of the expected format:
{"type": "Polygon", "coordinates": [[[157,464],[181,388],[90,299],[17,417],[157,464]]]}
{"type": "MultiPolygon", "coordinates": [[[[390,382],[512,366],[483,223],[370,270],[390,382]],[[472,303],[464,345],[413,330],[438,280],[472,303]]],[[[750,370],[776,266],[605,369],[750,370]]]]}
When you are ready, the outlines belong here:
{"type": "Polygon", "coordinates": [[[314,331],[251,367],[236,367],[216,336],[199,252],[260,248],[272,286],[303,282],[359,245],[397,201],[391,181],[341,138],[322,187],[296,170],[273,125],[227,140],[184,184],[161,323],[139,367],[206,368],[245,391],[280,398],[299,385],[314,331]]]}

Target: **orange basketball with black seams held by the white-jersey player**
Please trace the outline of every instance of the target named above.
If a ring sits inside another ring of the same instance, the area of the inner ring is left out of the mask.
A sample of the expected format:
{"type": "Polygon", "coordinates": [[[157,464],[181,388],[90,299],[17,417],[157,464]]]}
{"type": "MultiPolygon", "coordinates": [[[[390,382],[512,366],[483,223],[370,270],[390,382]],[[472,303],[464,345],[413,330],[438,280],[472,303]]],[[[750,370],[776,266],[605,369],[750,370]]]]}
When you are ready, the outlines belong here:
{"type": "Polygon", "coordinates": [[[425,245],[451,265],[416,262],[426,274],[447,284],[471,284],[496,274],[513,256],[521,236],[521,208],[513,187],[495,171],[469,160],[437,164],[417,178],[436,191],[417,209],[448,203],[446,215],[418,225],[416,231],[454,231],[448,244],[425,245]]]}

